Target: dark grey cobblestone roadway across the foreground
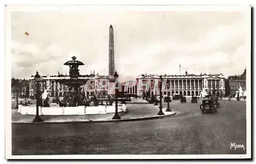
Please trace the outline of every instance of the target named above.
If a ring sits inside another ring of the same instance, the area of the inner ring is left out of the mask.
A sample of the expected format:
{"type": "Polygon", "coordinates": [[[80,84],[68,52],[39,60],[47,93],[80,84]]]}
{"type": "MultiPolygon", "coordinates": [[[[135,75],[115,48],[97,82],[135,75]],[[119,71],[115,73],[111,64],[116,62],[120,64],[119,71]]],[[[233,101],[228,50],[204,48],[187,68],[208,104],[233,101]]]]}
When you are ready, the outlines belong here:
{"type": "Polygon", "coordinates": [[[220,100],[216,113],[205,114],[187,102],[173,101],[180,114],[156,120],[13,124],[12,154],[246,154],[246,101],[220,100]],[[230,149],[233,142],[245,150],[230,149]]]}

